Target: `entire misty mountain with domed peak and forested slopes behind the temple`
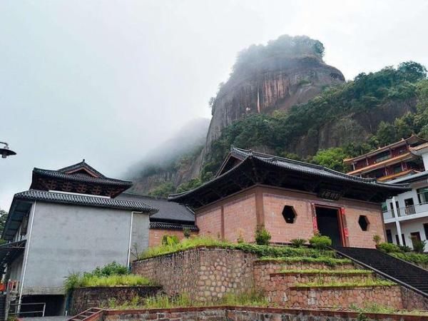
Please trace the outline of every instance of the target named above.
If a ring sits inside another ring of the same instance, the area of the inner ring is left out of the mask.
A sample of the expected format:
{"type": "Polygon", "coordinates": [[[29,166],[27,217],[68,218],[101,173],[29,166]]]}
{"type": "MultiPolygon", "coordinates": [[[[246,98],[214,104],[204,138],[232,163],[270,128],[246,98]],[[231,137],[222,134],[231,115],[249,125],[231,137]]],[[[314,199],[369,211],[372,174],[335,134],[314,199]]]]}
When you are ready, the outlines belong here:
{"type": "Polygon", "coordinates": [[[323,54],[320,41],[306,36],[240,52],[210,99],[209,127],[185,126],[187,138],[178,135],[134,166],[134,190],[166,196],[195,188],[213,177],[230,146],[346,170],[342,158],[412,133],[428,138],[424,66],[409,61],[345,82],[323,54]],[[200,130],[189,136],[193,127],[200,130]]]}

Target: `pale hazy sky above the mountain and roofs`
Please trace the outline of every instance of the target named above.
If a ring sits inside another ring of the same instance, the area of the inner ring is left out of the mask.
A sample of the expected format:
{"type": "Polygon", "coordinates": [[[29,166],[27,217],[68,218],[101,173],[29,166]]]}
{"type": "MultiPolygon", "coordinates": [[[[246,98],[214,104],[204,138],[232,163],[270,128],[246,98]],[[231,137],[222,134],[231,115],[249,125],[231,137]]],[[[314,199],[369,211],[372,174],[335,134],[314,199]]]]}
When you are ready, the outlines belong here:
{"type": "Polygon", "coordinates": [[[1,0],[0,208],[34,167],[83,158],[110,177],[210,117],[238,51],[282,34],[322,41],[345,78],[428,66],[428,1],[1,0]]]}

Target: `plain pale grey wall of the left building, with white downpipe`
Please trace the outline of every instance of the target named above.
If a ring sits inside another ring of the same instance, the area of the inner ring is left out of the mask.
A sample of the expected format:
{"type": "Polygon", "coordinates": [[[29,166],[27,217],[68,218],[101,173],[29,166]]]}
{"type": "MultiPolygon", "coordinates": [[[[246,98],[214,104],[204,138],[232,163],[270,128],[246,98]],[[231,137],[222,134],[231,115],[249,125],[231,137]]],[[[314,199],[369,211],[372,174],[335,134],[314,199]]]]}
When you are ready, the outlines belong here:
{"type": "MultiPolygon", "coordinates": [[[[148,214],[134,213],[133,240],[148,247],[148,214]]],[[[128,260],[131,211],[36,203],[23,294],[63,294],[71,272],[128,260]]],[[[30,230],[30,227],[29,227],[30,230]]]]}

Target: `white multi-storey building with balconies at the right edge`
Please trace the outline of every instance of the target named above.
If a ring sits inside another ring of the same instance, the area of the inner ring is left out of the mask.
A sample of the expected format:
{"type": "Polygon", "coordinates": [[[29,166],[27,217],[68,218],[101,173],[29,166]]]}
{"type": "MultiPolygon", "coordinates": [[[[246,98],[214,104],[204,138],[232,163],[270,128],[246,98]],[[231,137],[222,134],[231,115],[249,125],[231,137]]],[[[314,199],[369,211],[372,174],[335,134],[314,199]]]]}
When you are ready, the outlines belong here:
{"type": "Polygon", "coordinates": [[[428,143],[409,150],[422,157],[425,171],[389,181],[408,183],[412,190],[387,200],[383,211],[388,242],[413,248],[413,240],[428,240],[428,143]]]}

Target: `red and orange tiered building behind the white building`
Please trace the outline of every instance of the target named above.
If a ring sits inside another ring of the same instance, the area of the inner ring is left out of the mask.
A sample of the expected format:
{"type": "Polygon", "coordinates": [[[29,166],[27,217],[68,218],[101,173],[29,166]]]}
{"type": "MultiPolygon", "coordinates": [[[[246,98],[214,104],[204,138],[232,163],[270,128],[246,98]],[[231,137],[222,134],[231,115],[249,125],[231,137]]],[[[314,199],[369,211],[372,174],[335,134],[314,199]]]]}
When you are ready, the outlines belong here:
{"type": "Polygon", "coordinates": [[[424,138],[412,135],[407,139],[377,148],[370,153],[347,158],[343,163],[352,166],[349,175],[377,178],[377,180],[385,182],[423,171],[424,165],[415,148],[427,142],[424,138]]]}

